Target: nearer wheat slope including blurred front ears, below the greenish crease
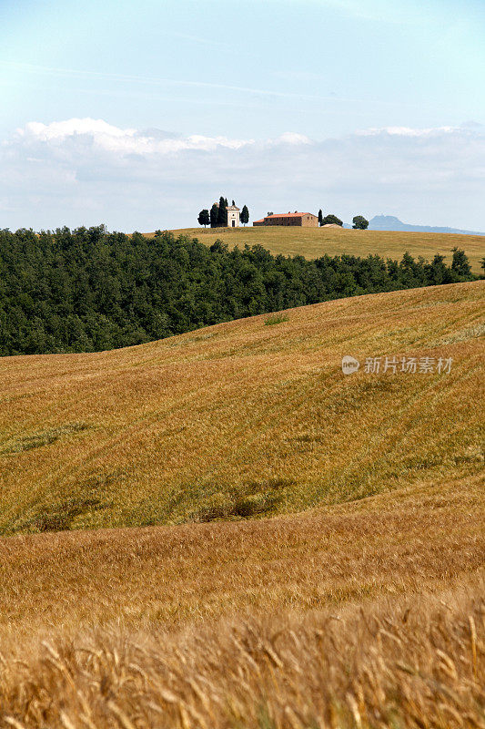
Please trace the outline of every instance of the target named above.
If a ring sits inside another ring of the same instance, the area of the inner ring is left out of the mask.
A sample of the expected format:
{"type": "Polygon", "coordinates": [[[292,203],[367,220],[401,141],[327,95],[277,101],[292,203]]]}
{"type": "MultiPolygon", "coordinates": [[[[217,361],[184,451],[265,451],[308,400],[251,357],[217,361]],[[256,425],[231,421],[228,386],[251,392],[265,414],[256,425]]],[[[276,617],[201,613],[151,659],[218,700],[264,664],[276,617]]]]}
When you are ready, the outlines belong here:
{"type": "Polygon", "coordinates": [[[0,727],[480,729],[482,487],[0,539],[0,727]]]}

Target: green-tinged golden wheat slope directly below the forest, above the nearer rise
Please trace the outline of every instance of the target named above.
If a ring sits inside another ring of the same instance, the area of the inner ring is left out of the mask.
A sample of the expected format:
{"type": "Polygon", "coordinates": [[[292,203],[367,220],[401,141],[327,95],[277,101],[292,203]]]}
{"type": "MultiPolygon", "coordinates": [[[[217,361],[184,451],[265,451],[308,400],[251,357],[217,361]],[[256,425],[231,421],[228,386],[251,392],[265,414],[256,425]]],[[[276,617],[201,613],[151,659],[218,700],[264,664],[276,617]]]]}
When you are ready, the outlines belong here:
{"type": "Polygon", "coordinates": [[[5,357],[0,534],[244,519],[472,477],[482,282],[98,354],[5,357]],[[453,357],[342,375],[343,354],[453,357]]]}

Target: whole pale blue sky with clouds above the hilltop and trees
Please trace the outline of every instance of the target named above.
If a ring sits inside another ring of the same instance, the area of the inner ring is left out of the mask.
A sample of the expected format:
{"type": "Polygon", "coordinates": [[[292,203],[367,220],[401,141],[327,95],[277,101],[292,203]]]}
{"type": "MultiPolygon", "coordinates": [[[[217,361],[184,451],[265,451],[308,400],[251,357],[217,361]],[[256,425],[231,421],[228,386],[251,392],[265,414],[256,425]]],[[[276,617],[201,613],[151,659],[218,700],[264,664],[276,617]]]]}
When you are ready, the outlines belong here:
{"type": "Polygon", "coordinates": [[[485,230],[485,0],[0,0],[0,228],[485,230]]]}

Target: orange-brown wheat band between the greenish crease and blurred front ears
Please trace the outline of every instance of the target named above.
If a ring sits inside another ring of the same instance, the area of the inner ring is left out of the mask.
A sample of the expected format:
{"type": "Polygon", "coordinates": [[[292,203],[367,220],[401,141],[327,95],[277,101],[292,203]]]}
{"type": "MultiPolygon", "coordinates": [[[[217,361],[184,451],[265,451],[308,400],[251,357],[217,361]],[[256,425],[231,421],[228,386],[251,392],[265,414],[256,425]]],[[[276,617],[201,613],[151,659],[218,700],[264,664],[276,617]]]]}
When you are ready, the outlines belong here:
{"type": "Polygon", "coordinates": [[[273,519],[0,539],[0,637],[440,590],[483,565],[484,503],[477,476],[273,519]]]}

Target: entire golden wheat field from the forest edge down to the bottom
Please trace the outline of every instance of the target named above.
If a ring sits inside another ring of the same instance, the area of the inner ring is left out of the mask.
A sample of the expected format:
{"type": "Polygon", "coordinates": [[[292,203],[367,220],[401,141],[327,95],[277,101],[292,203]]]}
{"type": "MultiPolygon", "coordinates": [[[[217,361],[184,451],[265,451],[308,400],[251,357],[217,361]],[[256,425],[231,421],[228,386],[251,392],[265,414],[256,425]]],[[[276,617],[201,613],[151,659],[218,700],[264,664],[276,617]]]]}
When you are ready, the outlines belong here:
{"type": "Polygon", "coordinates": [[[484,294],[0,360],[0,727],[485,727],[484,294]]]}

